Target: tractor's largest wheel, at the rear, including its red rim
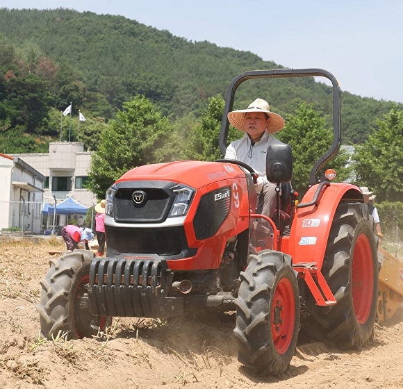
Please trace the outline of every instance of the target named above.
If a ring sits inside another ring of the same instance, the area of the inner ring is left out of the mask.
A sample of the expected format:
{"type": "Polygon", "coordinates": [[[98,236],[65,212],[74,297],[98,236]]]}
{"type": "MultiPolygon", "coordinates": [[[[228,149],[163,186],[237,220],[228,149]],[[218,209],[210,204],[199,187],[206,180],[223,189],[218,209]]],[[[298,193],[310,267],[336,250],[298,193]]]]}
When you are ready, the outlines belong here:
{"type": "Polygon", "coordinates": [[[317,306],[311,294],[306,308],[306,333],[338,347],[367,347],[377,315],[377,240],[365,204],[340,204],[336,210],[322,274],[336,297],[335,306],[317,306]]]}

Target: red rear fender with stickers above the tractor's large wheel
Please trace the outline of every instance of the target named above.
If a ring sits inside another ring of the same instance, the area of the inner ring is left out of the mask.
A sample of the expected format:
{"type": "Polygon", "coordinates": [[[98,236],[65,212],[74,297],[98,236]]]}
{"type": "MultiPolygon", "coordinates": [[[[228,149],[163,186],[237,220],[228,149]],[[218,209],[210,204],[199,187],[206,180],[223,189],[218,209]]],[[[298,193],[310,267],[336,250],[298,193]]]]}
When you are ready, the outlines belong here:
{"type": "MultiPolygon", "coordinates": [[[[318,188],[320,185],[309,188],[299,206],[312,202],[318,188]]],[[[363,195],[355,185],[329,183],[322,186],[317,199],[315,204],[296,210],[288,245],[288,254],[293,257],[293,265],[314,263],[321,269],[338,204],[340,201],[363,202],[363,195]]]]}

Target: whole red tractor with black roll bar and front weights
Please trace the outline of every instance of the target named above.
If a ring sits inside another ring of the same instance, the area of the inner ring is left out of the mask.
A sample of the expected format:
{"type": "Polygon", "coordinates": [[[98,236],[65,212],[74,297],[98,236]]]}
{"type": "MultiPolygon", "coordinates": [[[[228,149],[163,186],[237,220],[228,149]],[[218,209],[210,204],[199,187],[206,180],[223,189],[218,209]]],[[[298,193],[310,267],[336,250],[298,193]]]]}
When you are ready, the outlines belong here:
{"type": "Polygon", "coordinates": [[[268,180],[281,199],[273,220],[255,213],[256,174],[245,163],[135,167],[106,192],[106,258],[75,250],[51,259],[38,305],[44,338],[59,331],[90,337],[113,316],[236,310],[238,360],[278,376],[288,369],[300,327],[340,349],[368,344],[379,274],[373,220],[359,188],[319,176],[340,146],[336,78],[322,69],[240,74],[227,92],[220,148],[224,154],[227,113],[240,83],[301,76],[328,78],[334,109],[334,142],[311,169],[302,201],[290,188],[288,144],[268,150],[268,180]]]}

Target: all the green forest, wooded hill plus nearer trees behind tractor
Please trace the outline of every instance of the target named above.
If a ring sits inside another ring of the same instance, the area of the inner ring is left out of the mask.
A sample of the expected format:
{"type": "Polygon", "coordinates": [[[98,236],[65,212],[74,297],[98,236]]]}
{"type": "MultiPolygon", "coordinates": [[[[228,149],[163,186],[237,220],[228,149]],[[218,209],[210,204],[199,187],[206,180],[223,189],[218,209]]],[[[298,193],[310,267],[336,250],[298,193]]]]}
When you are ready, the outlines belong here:
{"type": "MultiPolygon", "coordinates": [[[[89,185],[102,198],[122,172],[140,164],[221,158],[229,83],[247,70],[280,67],[122,16],[0,8],[0,152],[40,153],[49,142],[83,142],[98,151],[89,185]]],[[[293,147],[293,185],[304,192],[309,169],[331,143],[331,88],[314,78],[248,81],[234,108],[256,97],[286,119],[278,138],[293,147]]],[[[340,152],[333,167],[339,180],[370,187],[385,204],[403,193],[402,111],[394,101],[341,93],[342,144],[356,153],[340,152]]],[[[229,141],[240,135],[231,129],[229,141]]],[[[397,208],[395,215],[403,210],[397,208]]]]}

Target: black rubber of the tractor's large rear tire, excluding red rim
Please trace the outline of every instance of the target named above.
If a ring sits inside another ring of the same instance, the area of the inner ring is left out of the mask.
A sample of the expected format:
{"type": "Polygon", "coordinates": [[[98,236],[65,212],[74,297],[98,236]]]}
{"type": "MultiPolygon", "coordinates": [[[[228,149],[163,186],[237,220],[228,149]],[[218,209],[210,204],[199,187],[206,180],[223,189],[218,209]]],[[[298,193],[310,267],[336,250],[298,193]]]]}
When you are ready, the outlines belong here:
{"type": "Polygon", "coordinates": [[[309,319],[302,322],[304,331],[312,338],[339,349],[359,350],[361,347],[367,347],[372,338],[377,313],[378,261],[377,240],[373,234],[373,219],[368,215],[368,207],[365,204],[339,204],[331,225],[322,274],[336,297],[337,304],[326,307],[318,306],[308,291],[306,311],[309,313],[309,319]],[[360,233],[367,236],[371,245],[374,270],[370,315],[362,325],[357,322],[354,313],[350,281],[352,254],[357,234],[360,233]]]}

